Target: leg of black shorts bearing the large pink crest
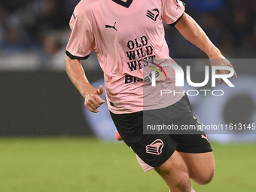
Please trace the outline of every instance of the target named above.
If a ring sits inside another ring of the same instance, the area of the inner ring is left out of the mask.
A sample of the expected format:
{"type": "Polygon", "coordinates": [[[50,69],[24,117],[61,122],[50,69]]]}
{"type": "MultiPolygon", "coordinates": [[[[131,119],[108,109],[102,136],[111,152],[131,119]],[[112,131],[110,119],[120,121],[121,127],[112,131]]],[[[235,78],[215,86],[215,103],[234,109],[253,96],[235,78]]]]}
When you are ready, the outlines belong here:
{"type": "MultiPolygon", "coordinates": [[[[123,141],[136,153],[139,163],[147,172],[166,162],[177,144],[169,135],[143,134],[143,113],[144,111],[133,114],[111,113],[111,117],[123,141]]],[[[159,124],[157,118],[152,120],[159,124]]]]}

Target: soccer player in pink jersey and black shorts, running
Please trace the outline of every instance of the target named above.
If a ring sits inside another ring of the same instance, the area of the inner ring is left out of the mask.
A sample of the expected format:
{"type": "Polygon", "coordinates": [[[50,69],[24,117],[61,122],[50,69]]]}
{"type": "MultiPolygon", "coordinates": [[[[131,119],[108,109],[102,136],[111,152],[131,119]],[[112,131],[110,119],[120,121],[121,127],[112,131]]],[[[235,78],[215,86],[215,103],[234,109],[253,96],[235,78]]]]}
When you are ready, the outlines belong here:
{"type": "MultiPolygon", "coordinates": [[[[70,20],[72,33],[66,47],[66,72],[89,111],[97,113],[107,102],[120,136],[136,153],[145,172],[154,169],[172,192],[190,192],[194,191],[190,178],[207,184],[215,172],[206,135],[143,134],[144,113],[154,114],[154,120],[163,117],[169,123],[198,123],[183,94],[156,97],[157,105],[149,106],[148,110],[143,106],[144,61],[170,59],[163,22],[175,26],[210,59],[223,59],[219,65],[232,67],[203,29],[184,12],[184,4],[179,0],[81,0],[70,20]],[[103,87],[92,87],[81,66],[81,59],[87,59],[92,50],[104,72],[107,101],[100,97],[103,87]]],[[[224,70],[218,72],[227,74],[224,70]]],[[[169,86],[180,90],[174,86],[175,78],[171,79],[169,86]]]]}

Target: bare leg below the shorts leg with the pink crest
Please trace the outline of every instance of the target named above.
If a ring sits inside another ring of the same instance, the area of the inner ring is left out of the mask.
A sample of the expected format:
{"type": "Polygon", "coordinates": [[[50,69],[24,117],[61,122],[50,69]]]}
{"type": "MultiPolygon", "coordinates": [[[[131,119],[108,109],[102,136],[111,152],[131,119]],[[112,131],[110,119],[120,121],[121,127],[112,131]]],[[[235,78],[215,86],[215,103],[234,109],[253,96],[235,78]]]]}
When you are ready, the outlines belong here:
{"type": "Polygon", "coordinates": [[[165,163],[155,171],[166,181],[171,191],[190,191],[190,179],[187,166],[178,151],[175,151],[165,163]]]}

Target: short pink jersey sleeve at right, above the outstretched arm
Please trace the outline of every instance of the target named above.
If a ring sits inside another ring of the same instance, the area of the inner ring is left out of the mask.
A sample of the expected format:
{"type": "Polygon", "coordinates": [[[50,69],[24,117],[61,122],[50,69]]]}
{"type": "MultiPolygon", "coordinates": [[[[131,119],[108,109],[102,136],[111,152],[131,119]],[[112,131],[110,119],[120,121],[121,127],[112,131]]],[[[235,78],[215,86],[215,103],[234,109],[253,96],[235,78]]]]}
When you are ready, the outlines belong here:
{"type": "Polygon", "coordinates": [[[162,11],[163,22],[175,26],[175,23],[184,14],[184,3],[179,0],[163,0],[162,11]]]}

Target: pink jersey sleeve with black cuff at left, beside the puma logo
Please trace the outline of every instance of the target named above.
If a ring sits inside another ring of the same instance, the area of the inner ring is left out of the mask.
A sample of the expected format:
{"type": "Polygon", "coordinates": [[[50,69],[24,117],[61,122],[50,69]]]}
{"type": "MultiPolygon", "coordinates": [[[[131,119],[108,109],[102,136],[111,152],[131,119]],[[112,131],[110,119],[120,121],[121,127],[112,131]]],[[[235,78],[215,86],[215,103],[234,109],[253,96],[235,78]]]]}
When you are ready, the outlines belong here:
{"type": "Polygon", "coordinates": [[[93,27],[90,21],[75,8],[69,26],[72,32],[66,46],[66,55],[70,59],[87,59],[95,47],[93,27]]]}

